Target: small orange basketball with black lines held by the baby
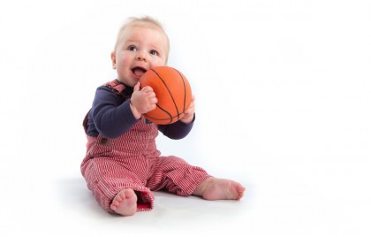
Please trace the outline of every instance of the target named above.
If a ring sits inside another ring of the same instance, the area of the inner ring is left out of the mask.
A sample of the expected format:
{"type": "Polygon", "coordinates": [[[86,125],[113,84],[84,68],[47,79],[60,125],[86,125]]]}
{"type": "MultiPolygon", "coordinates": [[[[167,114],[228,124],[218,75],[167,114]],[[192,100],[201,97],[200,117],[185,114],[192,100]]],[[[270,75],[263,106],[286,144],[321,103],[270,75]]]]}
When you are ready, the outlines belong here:
{"type": "Polygon", "coordinates": [[[170,66],[157,66],[140,77],[140,87],[149,86],[157,97],[155,110],[143,116],[158,125],[177,122],[191,103],[192,91],[185,75],[170,66]]]}

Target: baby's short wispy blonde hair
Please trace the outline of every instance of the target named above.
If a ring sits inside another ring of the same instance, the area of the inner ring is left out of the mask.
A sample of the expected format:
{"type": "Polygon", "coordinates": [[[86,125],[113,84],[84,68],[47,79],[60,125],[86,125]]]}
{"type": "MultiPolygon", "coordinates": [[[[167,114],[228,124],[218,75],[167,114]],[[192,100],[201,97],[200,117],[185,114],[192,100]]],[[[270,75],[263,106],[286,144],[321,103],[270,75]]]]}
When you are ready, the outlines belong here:
{"type": "Polygon", "coordinates": [[[117,50],[119,41],[121,39],[121,35],[123,34],[123,32],[125,31],[127,27],[148,27],[148,28],[157,28],[161,30],[163,34],[166,36],[166,40],[167,40],[168,51],[166,52],[166,58],[169,57],[170,41],[169,41],[168,34],[166,34],[166,32],[163,29],[163,25],[158,20],[153,19],[148,16],[141,17],[141,18],[132,17],[132,18],[128,18],[125,21],[124,25],[120,27],[120,29],[118,30],[115,48],[113,49],[114,51],[117,50]]]}

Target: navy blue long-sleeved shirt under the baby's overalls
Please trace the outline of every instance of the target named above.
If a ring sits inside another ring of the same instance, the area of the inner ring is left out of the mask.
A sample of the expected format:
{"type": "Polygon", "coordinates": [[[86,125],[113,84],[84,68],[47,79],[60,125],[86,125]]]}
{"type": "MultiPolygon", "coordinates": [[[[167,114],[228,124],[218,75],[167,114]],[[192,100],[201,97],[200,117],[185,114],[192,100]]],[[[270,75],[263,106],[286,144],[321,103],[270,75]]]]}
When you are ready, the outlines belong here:
{"type": "MultiPolygon", "coordinates": [[[[132,128],[138,122],[130,109],[132,94],[133,88],[127,86],[121,95],[105,86],[97,88],[92,109],[88,114],[87,134],[94,137],[102,134],[106,138],[117,138],[132,128]]],[[[157,127],[170,139],[182,139],[192,130],[193,122],[185,124],[179,120],[170,125],[157,127]]]]}

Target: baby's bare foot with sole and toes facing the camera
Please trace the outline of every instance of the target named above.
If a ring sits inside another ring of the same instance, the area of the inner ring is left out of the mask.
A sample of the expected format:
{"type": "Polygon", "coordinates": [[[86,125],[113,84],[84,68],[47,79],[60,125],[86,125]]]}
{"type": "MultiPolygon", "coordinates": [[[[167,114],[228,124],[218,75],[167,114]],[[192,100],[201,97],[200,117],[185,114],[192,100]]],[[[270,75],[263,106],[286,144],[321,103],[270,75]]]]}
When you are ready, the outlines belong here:
{"type": "Polygon", "coordinates": [[[137,199],[133,189],[124,189],[115,196],[110,209],[122,216],[133,216],[137,211],[137,199]]]}

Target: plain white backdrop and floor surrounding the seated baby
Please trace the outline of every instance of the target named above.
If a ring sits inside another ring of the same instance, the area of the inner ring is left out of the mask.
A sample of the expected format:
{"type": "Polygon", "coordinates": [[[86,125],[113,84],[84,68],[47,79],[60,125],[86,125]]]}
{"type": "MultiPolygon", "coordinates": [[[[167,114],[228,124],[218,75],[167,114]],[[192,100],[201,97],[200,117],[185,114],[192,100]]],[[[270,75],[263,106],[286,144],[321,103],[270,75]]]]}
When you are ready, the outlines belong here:
{"type": "Polygon", "coordinates": [[[1,1],[1,236],[371,236],[371,2],[1,1]],[[196,96],[177,155],[240,202],[155,193],[105,213],[79,173],[82,119],[115,78],[117,29],[150,15],[196,96]]]}

